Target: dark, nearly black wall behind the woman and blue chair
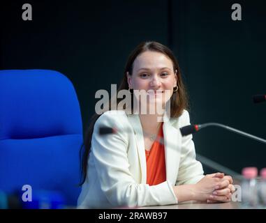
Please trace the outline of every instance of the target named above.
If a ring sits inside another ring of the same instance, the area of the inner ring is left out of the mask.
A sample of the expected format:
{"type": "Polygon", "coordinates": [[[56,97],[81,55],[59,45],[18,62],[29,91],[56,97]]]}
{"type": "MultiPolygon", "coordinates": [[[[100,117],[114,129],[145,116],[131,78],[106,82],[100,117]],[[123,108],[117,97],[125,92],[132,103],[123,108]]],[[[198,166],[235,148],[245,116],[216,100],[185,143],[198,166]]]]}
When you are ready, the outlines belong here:
{"type": "MultiPolygon", "coordinates": [[[[218,122],[266,138],[265,1],[1,1],[0,69],[51,69],[75,86],[84,132],[98,89],[119,84],[131,50],[168,45],[189,90],[191,122],[218,122]],[[31,3],[33,20],[22,20],[31,3]],[[242,21],[232,21],[240,3],[242,21]]],[[[1,109],[1,108],[0,108],[1,109]]],[[[196,152],[241,172],[266,167],[266,146],[219,128],[194,136],[196,152]]],[[[213,171],[205,167],[206,173],[213,171]]]]}

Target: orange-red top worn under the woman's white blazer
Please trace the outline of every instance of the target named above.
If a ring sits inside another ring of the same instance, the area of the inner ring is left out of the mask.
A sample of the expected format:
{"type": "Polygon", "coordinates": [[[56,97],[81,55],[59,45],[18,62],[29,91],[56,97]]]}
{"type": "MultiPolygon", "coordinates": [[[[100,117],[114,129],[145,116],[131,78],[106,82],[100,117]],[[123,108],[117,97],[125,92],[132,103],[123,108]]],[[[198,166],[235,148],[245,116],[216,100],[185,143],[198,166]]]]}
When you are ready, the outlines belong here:
{"type": "Polygon", "coordinates": [[[164,145],[159,141],[163,139],[163,125],[158,132],[157,138],[152,144],[150,151],[146,151],[147,184],[157,185],[166,180],[165,151],[164,145]]]}

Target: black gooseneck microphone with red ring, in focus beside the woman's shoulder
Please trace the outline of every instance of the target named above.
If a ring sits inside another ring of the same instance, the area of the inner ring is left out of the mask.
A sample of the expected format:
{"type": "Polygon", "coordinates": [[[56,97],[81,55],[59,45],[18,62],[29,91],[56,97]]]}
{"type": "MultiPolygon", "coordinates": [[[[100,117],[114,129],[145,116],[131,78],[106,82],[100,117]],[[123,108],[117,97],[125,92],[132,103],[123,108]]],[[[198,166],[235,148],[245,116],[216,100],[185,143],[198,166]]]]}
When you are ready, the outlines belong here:
{"type": "Polygon", "coordinates": [[[219,124],[219,123],[205,123],[205,124],[201,124],[201,125],[186,125],[186,126],[180,128],[180,132],[181,132],[182,136],[184,137],[184,136],[186,136],[188,134],[193,134],[195,132],[198,132],[200,129],[205,128],[205,127],[209,127],[209,126],[216,126],[216,127],[220,127],[220,128],[225,128],[226,130],[229,130],[231,132],[235,132],[237,134],[241,134],[244,137],[248,137],[250,139],[255,139],[256,141],[260,141],[260,142],[266,144],[266,140],[265,139],[262,139],[260,137],[256,137],[253,134],[242,132],[242,131],[237,130],[235,128],[231,128],[231,127],[229,127],[227,125],[222,125],[222,124],[219,124]]]}

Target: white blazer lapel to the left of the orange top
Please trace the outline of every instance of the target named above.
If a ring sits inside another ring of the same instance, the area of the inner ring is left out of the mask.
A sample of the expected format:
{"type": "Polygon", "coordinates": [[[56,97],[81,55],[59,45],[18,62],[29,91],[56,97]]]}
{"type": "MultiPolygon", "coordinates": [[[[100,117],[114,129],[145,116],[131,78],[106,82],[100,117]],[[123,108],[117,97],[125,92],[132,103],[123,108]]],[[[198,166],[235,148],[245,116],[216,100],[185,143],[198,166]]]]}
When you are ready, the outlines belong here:
{"type": "Polygon", "coordinates": [[[141,169],[141,183],[146,183],[147,165],[146,165],[145,145],[144,145],[140,118],[138,114],[131,114],[131,115],[128,115],[128,120],[131,123],[131,126],[133,127],[133,130],[135,133],[136,144],[138,147],[138,156],[140,159],[140,169],[141,169]]]}

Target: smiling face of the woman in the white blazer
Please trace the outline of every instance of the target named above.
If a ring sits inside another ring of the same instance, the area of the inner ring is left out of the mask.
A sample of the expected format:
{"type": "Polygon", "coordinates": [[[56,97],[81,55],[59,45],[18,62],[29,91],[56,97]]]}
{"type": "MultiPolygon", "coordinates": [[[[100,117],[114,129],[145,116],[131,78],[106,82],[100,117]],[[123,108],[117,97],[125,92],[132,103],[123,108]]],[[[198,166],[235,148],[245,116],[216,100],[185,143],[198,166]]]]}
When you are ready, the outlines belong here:
{"type": "Polygon", "coordinates": [[[133,63],[132,75],[127,73],[128,86],[133,90],[145,90],[147,102],[165,105],[177,86],[177,75],[172,60],[160,52],[146,51],[133,63]]]}

